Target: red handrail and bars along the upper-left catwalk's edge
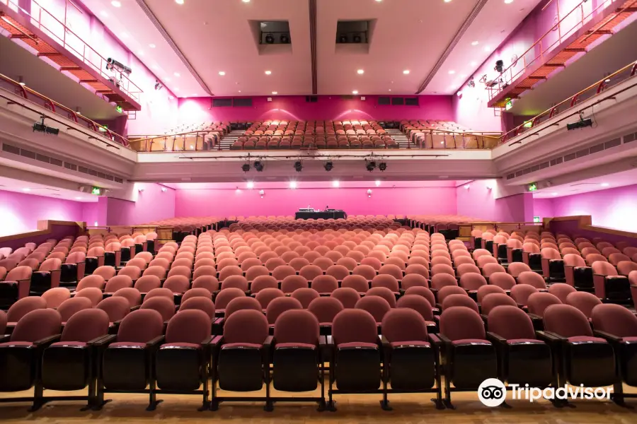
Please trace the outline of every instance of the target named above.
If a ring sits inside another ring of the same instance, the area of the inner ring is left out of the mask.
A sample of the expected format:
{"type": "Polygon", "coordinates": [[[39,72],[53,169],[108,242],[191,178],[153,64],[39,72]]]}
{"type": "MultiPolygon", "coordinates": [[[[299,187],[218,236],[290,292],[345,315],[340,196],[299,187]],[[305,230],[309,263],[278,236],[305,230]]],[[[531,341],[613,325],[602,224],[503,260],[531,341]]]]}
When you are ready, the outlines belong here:
{"type": "Polygon", "coordinates": [[[143,93],[142,89],[139,88],[137,85],[135,85],[135,83],[133,83],[130,80],[130,78],[128,78],[125,75],[125,73],[120,73],[117,71],[115,71],[113,75],[106,73],[105,70],[106,70],[106,65],[108,64],[108,61],[101,54],[99,54],[96,51],[96,49],[93,49],[93,47],[88,45],[88,43],[86,43],[81,37],[79,37],[78,35],[76,35],[76,33],[74,33],[72,30],[69,29],[69,27],[67,26],[68,1],[64,1],[64,22],[62,22],[61,20],[53,16],[52,13],[50,13],[49,11],[47,11],[47,9],[40,6],[40,4],[38,4],[38,2],[35,0],[30,0],[31,9],[32,9],[31,11],[27,11],[24,8],[22,8],[17,3],[17,0],[4,0],[2,1],[2,3],[7,4],[9,8],[19,10],[19,13],[21,15],[28,16],[30,18],[31,24],[35,25],[38,29],[44,31],[47,35],[54,38],[54,40],[57,41],[59,45],[61,45],[64,49],[67,49],[70,52],[74,53],[75,56],[78,59],[81,59],[81,61],[83,61],[85,64],[90,65],[91,69],[93,69],[93,71],[97,71],[100,74],[100,76],[106,79],[111,79],[113,83],[117,83],[117,88],[122,90],[127,95],[130,95],[131,98],[134,98],[135,100],[139,101],[139,95],[143,93]],[[32,12],[34,8],[38,9],[38,16],[33,16],[32,12]],[[64,29],[64,34],[62,35],[62,37],[59,37],[59,35],[57,35],[55,31],[52,28],[50,28],[51,24],[49,24],[49,27],[47,27],[45,23],[42,23],[43,17],[45,18],[45,20],[53,20],[53,23],[62,25],[62,28],[64,29]],[[69,39],[67,41],[67,33],[72,35],[75,40],[78,40],[79,42],[81,42],[82,52],[79,52],[75,47],[69,44],[69,42],[74,41],[74,39],[69,39]],[[91,60],[91,55],[93,55],[94,57],[98,57],[99,64],[96,64],[91,60]],[[117,76],[119,76],[120,78],[119,81],[115,81],[115,78],[117,78],[117,76]]]}

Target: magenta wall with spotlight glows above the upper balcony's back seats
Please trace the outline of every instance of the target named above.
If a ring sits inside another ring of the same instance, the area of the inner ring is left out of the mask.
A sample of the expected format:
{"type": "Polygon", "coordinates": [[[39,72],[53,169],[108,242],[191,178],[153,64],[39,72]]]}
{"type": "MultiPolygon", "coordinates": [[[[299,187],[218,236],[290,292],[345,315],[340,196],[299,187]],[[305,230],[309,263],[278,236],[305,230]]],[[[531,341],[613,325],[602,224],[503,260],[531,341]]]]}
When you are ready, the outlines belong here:
{"type": "Polygon", "coordinates": [[[452,121],[451,96],[418,96],[418,106],[378,105],[378,96],[365,100],[344,100],[339,96],[319,96],[318,102],[306,102],[305,96],[272,96],[252,98],[252,107],[211,107],[210,98],[185,98],[179,101],[180,124],[205,121],[256,121],[260,119],[343,120],[343,119],[440,119],[452,121]]]}

